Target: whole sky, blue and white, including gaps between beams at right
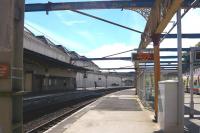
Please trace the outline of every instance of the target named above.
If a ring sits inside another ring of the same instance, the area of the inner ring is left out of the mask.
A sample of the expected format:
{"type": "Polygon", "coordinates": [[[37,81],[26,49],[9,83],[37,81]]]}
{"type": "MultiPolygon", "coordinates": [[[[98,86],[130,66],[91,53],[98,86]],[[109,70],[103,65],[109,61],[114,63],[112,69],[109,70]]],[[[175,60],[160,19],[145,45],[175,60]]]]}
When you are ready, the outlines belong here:
{"type": "MultiPolygon", "coordinates": [[[[67,0],[49,0],[51,2],[67,0]]],[[[74,0],[75,1],[75,0],[74,0]]],[[[84,0],[77,0],[84,1],[84,0]]],[[[41,3],[47,0],[26,0],[26,3],[41,3]]],[[[83,12],[144,31],[146,20],[138,13],[130,10],[84,10],[83,12]]],[[[176,16],[172,21],[176,21],[176,16]]],[[[183,33],[198,33],[200,31],[200,10],[191,10],[182,19],[183,33]]],[[[25,13],[25,26],[35,35],[45,35],[55,44],[61,44],[71,51],[76,51],[86,57],[104,57],[110,54],[137,48],[141,34],[122,29],[108,23],[89,18],[71,11],[53,11],[25,13]]],[[[169,23],[165,31],[172,26],[169,23]]],[[[176,33],[176,27],[172,31],[176,33]]],[[[199,39],[184,39],[183,47],[190,47],[199,42],[199,39]]],[[[161,47],[176,47],[175,39],[167,39],[161,47]]],[[[152,47],[152,45],[149,45],[152,47]]],[[[169,55],[176,53],[161,53],[169,55]]],[[[119,56],[129,56],[125,53],[119,56]]],[[[95,61],[101,68],[124,67],[133,65],[130,61],[95,61]]],[[[129,70],[130,71],[130,70],[129,70]]]]}

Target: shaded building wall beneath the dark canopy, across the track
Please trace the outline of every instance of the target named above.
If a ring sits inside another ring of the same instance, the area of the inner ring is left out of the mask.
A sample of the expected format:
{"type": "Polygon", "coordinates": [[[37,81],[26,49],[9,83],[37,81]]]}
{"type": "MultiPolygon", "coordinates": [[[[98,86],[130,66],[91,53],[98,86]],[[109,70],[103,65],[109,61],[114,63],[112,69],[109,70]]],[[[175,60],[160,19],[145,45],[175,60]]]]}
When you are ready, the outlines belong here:
{"type": "Polygon", "coordinates": [[[76,72],[45,66],[37,62],[24,62],[25,91],[76,89],[76,72]]]}

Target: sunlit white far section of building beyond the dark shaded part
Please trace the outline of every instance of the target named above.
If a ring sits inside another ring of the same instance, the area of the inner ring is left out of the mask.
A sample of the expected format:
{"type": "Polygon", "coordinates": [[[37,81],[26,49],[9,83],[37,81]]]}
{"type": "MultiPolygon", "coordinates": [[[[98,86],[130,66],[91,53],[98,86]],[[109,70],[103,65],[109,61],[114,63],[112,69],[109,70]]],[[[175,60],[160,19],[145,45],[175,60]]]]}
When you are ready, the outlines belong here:
{"type": "Polygon", "coordinates": [[[94,88],[95,83],[97,87],[112,87],[112,86],[124,86],[123,80],[120,74],[117,73],[103,73],[100,71],[99,66],[94,62],[87,60],[85,56],[80,56],[74,51],[70,51],[71,63],[73,65],[84,67],[89,71],[78,72],[76,76],[76,83],[78,88],[94,88]],[[73,59],[84,60],[73,60],[73,59]]]}

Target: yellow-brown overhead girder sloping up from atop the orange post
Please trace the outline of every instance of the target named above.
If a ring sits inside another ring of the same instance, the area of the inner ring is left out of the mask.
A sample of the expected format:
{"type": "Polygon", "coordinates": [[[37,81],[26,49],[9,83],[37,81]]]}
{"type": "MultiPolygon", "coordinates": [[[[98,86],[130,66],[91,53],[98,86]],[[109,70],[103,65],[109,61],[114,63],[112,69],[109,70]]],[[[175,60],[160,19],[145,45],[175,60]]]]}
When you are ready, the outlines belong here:
{"type": "Polygon", "coordinates": [[[142,39],[139,49],[147,47],[147,45],[151,42],[151,36],[154,34],[161,34],[163,32],[171,18],[182,5],[182,2],[183,0],[155,0],[144,30],[145,34],[141,37],[142,39]]]}

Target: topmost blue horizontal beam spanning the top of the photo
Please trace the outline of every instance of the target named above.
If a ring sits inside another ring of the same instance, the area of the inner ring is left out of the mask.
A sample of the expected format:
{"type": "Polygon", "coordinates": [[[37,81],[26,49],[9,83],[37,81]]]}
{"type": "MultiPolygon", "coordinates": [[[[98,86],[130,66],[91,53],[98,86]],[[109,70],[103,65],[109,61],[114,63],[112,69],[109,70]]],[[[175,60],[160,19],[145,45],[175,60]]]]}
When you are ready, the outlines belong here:
{"type": "Polygon", "coordinates": [[[26,12],[56,11],[56,10],[84,10],[84,9],[126,9],[151,8],[154,0],[119,0],[119,1],[87,1],[62,3],[34,3],[26,4],[26,12]]]}

